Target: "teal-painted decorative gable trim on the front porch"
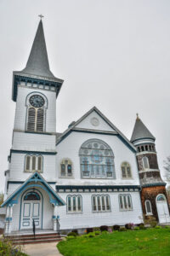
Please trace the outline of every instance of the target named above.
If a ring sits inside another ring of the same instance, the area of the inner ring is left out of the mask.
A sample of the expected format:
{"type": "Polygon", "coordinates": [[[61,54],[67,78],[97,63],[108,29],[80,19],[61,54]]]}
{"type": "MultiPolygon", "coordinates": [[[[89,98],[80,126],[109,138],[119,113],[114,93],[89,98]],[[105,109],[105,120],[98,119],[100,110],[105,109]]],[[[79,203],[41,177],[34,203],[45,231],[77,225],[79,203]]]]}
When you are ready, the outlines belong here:
{"type": "Polygon", "coordinates": [[[42,176],[38,172],[34,172],[30,178],[26,180],[26,182],[20,186],[19,189],[16,189],[16,191],[8,197],[6,201],[3,202],[2,207],[5,205],[14,205],[14,203],[18,203],[18,199],[22,191],[26,188],[31,188],[31,187],[40,187],[43,190],[46,190],[48,192],[48,195],[50,197],[50,202],[54,203],[55,205],[59,206],[65,206],[65,201],[63,201],[55,192],[54,189],[52,189],[48,183],[45,182],[45,180],[42,178],[42,176]],[[28,183],[33,182],[33,184],[28,185],[28,183]],[[38,185],[37,182],[41,182],[42,185],[38,185]],[[16,196],[17,195],[17,196],[16,196]],[[54,199],[51,197],[51,195],[54,196],[54,199]],[[14,200],[14,197],[16,196],[16,199],[14,200]]]}

